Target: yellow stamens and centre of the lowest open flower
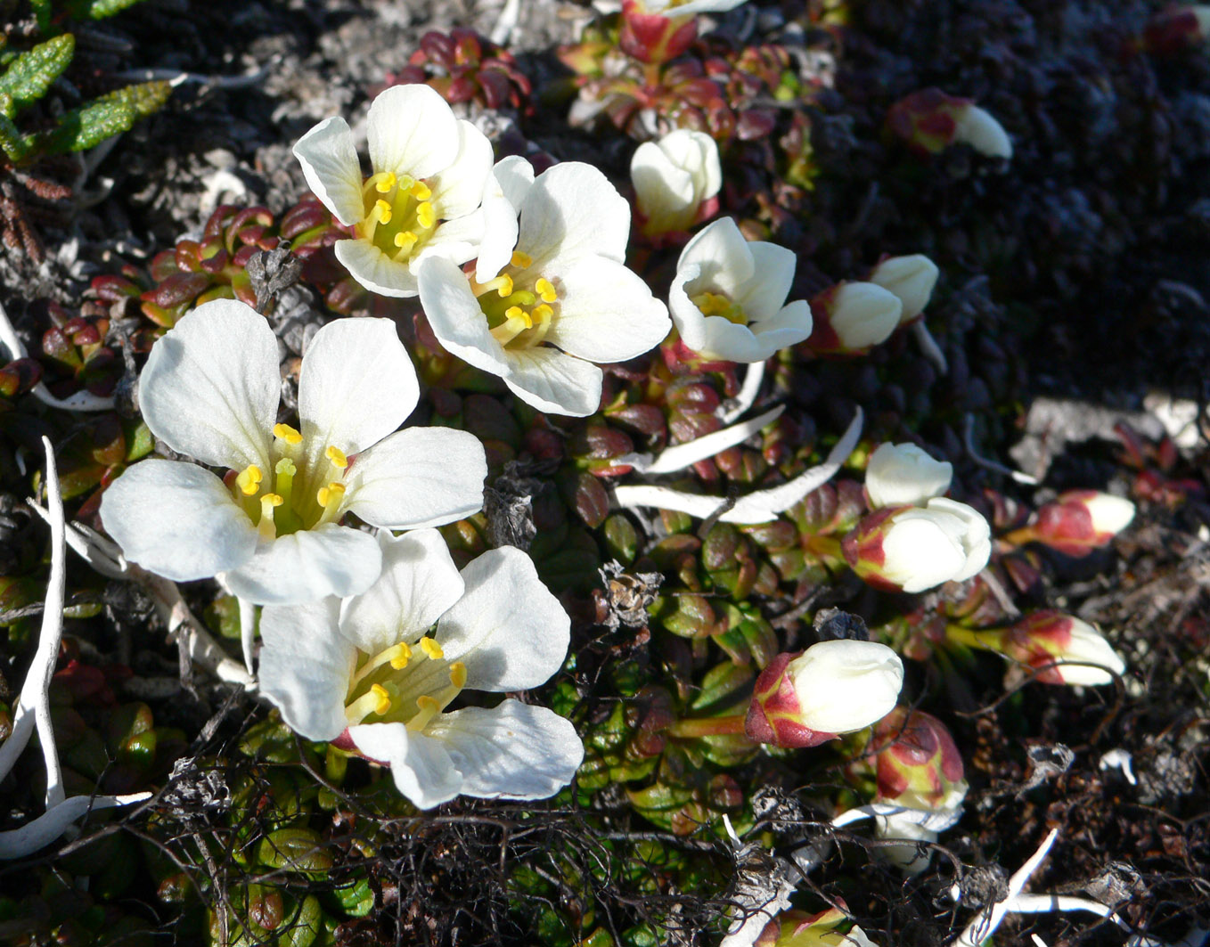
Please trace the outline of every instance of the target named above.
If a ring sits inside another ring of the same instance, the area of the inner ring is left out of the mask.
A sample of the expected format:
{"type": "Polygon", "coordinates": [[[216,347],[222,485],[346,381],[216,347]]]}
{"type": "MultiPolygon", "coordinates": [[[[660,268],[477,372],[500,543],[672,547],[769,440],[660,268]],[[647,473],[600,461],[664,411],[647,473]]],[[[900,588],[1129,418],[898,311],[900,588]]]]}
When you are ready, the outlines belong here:
{"type": "Polygon", "coordinates": [[[442,646],[425,635],[415,645],[399,642],[378,654],[359,656],[345,695],[348,726],[405,723],[422,731],[466,687],[466,665],[445,659],[442,646]]]}

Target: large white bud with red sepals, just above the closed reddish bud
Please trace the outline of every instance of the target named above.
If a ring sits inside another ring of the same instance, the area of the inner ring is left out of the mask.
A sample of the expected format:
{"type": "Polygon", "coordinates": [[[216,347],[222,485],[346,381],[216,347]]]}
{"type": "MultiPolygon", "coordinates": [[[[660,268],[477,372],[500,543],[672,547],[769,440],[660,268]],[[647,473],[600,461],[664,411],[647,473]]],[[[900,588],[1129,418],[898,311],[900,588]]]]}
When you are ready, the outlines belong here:
{"type": "Polygon", "coordinates": [[[744,733],[790,749],[818,746],[886,716],[903,680],[899,656],[871,641],[820,641],[778,654],[756,679],[744,733]]]}

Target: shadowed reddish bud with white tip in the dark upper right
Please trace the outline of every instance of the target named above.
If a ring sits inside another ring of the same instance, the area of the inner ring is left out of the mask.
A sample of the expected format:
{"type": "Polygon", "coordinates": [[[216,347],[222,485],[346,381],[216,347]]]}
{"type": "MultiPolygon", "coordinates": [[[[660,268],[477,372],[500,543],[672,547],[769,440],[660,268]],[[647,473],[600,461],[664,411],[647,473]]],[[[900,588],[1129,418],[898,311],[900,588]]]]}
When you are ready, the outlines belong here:
{"type": "Polygon", "coordinates": [[[991,112],[939,88],[921,89],[897,102],[887,125],[917,151],[935,155],[963,143],[987,157],[1013,156],[1013,143],[991,112]]]}

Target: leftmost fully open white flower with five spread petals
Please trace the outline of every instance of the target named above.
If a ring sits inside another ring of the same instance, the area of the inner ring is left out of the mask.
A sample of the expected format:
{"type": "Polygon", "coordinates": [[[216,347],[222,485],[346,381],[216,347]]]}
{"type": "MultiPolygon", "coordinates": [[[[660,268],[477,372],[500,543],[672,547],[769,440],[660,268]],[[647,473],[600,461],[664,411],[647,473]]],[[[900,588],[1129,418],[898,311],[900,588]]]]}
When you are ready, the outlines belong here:
{"type": "Polygon", "coordinates": [[[172,450],[230,470],[148,460],[100,506],[126,558],[177,582],[218,576],[253,602],[351,595],[378,576],[373,536],[434,526],[483,502],[486,460],[471,434],[392,433],[419,397],[416,373],[388,319],[338,319],[307,347],[300,431],[277,421],[277,340],[242,302],[215,300],[151,350],[139,380],[143,417],[172,450]]]}

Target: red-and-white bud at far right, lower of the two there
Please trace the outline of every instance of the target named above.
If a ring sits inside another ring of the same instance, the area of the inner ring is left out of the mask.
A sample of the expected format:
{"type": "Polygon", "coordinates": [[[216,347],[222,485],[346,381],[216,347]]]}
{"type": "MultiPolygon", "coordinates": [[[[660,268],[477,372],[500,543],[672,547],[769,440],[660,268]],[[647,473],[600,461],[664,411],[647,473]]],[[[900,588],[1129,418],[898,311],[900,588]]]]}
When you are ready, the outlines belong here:
{"type": "Polygon", "coordinates": [[[1113,683],[1114,675],[1127,670],[1125,662],[1093,625],[1051,610],[1033,612],[1008,629],[1003,653],[1041,669],[1035,680],[1042,683],[1096,687],[1113,683]]]}

